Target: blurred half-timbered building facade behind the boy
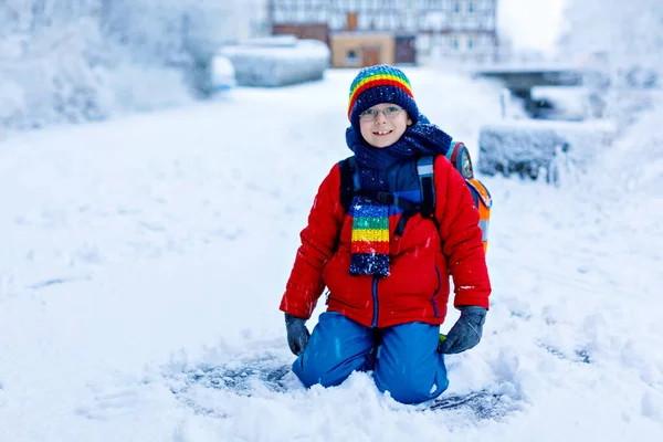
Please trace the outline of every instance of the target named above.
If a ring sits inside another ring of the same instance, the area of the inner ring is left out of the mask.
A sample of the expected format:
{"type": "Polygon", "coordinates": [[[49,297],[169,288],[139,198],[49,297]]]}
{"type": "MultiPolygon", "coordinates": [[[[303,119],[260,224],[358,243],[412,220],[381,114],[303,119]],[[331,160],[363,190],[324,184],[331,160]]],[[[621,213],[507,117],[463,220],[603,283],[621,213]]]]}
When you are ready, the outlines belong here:
{"type": "Polygon", "coordinates": [[[270,0],[267,15],[275,34],[318,40],[324,34],[330,46],[340,33],[344,42],[348,33],[362,40],[389,33],[400,51],[397,63],[412,59],[408,46],[419,55],[461,62],[493,62],[498,53],[497,0],[270,0]]]}

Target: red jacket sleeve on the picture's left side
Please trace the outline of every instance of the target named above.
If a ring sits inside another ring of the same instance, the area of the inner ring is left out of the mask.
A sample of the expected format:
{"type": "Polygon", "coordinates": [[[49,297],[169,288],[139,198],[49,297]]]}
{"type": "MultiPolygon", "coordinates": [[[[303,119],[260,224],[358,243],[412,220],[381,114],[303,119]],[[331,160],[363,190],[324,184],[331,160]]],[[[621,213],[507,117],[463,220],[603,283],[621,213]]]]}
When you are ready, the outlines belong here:
{"type": "Polygon", "coordinates": [[[325,284],[323,269],[335,252],[345,209],[340,203],[340,169],[335,165],[320,185],[301,233],[302,245],[281,299],[281,311],[308,319],[325,284]]]}

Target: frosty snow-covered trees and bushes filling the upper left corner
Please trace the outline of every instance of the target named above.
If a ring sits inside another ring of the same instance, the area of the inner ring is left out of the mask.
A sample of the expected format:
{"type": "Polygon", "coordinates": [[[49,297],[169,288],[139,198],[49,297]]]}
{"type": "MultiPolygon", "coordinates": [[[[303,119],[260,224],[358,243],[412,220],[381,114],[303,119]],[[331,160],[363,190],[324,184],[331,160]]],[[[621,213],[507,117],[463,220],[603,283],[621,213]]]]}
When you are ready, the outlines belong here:
{"type": "Polygon", "coordinates": [[[0,129],[180,104],[244,20],[236,0],[0,1],[0,129]]]}

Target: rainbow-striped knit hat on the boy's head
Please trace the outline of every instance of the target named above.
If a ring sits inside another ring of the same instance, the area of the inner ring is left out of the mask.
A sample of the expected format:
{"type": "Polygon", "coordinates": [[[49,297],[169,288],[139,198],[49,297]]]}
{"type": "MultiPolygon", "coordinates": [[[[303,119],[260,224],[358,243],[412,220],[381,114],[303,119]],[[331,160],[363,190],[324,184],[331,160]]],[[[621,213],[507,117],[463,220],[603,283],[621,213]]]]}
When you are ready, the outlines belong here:
{"type": "Polygon", "coordinates": [[[388,64],[364,67],[350,86],[348,118],[355,130],[359,130],[359,115],[380,103],[393,103],[408,112],[417,124],[419,109],[412,95],[412,86],[403,72],[388,64]]]}

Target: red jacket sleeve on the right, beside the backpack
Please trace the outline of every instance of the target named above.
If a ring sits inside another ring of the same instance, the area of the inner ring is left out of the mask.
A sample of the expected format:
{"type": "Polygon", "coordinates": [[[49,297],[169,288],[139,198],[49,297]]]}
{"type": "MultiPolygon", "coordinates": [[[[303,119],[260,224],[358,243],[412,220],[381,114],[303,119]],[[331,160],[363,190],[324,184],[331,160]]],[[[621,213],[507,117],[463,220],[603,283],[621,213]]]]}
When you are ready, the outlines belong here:
{"type": "Polygon", "coordinates": [[[491,282],[478,211],[464,178],[442,156],[435,159],[435,217],[454,284],[454,306],[488,308],[491,282]]]}

